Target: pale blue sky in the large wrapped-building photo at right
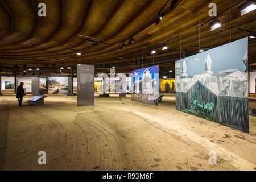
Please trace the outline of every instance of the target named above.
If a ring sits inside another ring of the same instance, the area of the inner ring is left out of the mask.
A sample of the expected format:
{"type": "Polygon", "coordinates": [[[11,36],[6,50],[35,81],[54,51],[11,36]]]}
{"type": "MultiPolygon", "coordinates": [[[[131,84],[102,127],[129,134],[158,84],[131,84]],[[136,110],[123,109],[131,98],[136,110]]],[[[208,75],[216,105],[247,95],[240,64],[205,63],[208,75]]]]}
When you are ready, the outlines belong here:
{"type": "MultiPolygon", "coordinates": [[[[207,54],[210,54],[212,59],[213,72],[218,73],[219,71],[228,69],[239,69],[244,72],[246,69],[243,64],[243,56],[247,51],[248,38],[243,38],[235,42],[225,44],[217,48],[210,49],[208,51],[199,53],[185,58],[187,64],[188,76],[202,74],[205,71],[205,59],[207,54]]],[[[181,69],[183,60],[179,60],[181,69]]]]}

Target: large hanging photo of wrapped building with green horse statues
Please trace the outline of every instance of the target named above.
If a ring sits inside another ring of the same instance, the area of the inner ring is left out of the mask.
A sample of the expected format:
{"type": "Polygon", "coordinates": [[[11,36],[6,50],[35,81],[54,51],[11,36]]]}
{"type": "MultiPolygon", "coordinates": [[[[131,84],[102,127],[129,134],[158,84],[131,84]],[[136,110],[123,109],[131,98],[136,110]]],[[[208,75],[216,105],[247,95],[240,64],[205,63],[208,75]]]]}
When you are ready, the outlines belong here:
{"type": "Polygon", "coordinates": [[[247,38],[176,61],[176,109],[249,133],[247,38]]]}

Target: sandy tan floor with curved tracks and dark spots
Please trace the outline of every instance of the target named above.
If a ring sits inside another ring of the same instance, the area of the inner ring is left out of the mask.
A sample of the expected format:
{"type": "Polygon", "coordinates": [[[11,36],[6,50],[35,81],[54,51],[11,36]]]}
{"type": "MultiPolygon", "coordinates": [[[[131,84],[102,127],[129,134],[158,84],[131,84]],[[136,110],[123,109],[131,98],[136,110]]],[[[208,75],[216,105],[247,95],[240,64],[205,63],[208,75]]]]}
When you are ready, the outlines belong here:
{"type": "Polygon", "coordinates": [[[116,96],[96,97],[95,106],[77,107],[67,96],[24,105],[0,97],[1,126],[9,122],[1,127],[4,170],[256,170],[253,116],[246,134],[175,110],[174,96],[158,107],[116,96]],[[46,165],[39,166],[39,151],[46,165]]]}

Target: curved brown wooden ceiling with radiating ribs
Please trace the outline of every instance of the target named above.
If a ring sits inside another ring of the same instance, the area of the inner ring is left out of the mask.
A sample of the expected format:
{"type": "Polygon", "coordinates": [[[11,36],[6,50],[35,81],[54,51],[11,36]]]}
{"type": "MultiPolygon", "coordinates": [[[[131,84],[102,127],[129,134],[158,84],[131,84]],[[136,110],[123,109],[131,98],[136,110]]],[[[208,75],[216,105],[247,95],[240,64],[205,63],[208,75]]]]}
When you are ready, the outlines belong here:
{"type": "MultiPolygon", "coordinates": [[[[170,9],[171,2],[164,7],[164,18],[156,26],[152,23],[166,0],[0,0],[0,65],[105,63],[132,69],[141,59],[143,65],[174,67],[181,56],[180,48],[187,55],[198,52],[191,46],[199,46],[200,22],[210,20],[209,3],[217,4],[218,13],[229,9],[230,4],[222,0],[183,0],[170,9]],[[37,16],[40,2],[46,3],[46,17],[37,16]],[[78,34],[108,44],[96,46],[79,39],[85,37],[78,34]],[[127,45],[134,35],[134,43],[127,45]],[[120,48],[122,42],[127,45],[125,49],[120,48]],[[168,49],[161,51],[164,42],[168,49]],[[151,56],[153,48],[156,54],[151,56]],[[70,49],[86,52],[77,56],[70,49]]],[[[218,16],[222,22],[218,30],[210,31],[209,23],[200,27],[201,47],[228,43],[230,27],[232,41],[248,36],[238,28],[256,31],[256,10],[240,16],[238,6],[243,2],[231,1],[232,6],[237,5],[218,16]]],[[[256,63],[255,41],[250,41],[249,48],[250,63],[256,63]]]]}

